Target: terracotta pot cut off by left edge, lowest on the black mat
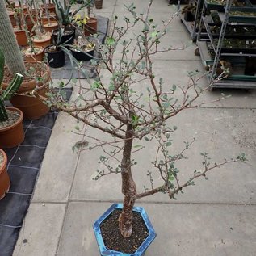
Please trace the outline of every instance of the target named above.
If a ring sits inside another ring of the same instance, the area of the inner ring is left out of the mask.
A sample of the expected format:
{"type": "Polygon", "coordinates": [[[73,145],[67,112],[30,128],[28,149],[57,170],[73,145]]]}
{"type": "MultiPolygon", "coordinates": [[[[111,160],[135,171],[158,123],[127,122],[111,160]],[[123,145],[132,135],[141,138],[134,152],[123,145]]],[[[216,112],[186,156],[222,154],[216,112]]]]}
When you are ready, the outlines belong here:
{"type": "Polygon", "coordinates": [[[0,200],[6,195],[6,192],[9,191],[10,188],[10,178],[7,173],[7,156],[6,153],[0,149],[0,154],[3,156],[3,162],[0,166],[0,200]]]}

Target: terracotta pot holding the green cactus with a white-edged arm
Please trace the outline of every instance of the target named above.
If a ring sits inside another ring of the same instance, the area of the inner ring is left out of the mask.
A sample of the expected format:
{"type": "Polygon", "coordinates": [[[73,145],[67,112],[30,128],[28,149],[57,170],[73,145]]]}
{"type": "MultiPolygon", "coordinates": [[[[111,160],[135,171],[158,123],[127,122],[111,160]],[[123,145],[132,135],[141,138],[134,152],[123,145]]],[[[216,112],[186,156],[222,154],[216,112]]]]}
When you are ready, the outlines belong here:
{"type": "Polygon", "coordinates": [[[13,148],[24,140],[23,131],[23,112],[15,107],[6,107],[6,109],[17,111],[19,113],[19,120],[6,128],[0,128],[0,148],[13,148]]]}

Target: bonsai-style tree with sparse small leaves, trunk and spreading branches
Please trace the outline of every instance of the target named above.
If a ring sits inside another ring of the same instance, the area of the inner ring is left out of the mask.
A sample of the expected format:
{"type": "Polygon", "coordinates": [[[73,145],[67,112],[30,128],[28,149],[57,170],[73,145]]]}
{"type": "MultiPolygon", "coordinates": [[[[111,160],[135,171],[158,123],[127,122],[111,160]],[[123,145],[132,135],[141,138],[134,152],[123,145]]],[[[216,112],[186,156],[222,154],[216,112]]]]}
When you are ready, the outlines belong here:
{"type": "MultiPolygon", "coordinates": [[[[178,169],[175,162],[185,159],[185,153],[190,149],[191,142],[187,142],[179,153],[171,153],[172,133],[177,127],[168,126],[167,120],[172,119],[186,109],[200,107],[204,103],[196,101],[205,88],[198,86],[198,72],[189,73],[190,82],[186,86],[163,86],[164,81],[154,73],[153,57],[158,53],[177,50],[178,48],[162,48],[160,41],[166,35],[167,27],[174,16],[172,15],[162,28],[150,19],[150,6],[145,14],[137,14],[136,7],[128,6],[132,19],[124,18],[124,26],[117,25],[115,16],[113,30],[107,37],[106,44],[99,48],[101,59],[91,61],[94,65],[97,78],[94,82],[84,83],[78,90],[78,98],[67,103],[61,94],[52,92],[48,102],[61,111],[72,115],[83,124],[110,135],[101,139],[99,136],[89,136],[95,145],[81,141],[74,146],[74,150],[94,149],[101,147],[103,155],[99,162],[104,170],[97,170],[94,179],[120,174],[122,177],[122,193],[124,194],[124,208],[120,214],[119,227],[124,237],[132,234],[132,208],[136,199],[165,193],[174,199],[174,196],[183,192],[185,187],[194,185],[195,178],[205,177],[209,170],[223,166],[229,162],[242,162],[246,158],[243,154],[221,163],[211,164],[208,153],[202,153],[203,170],[195,170],[186,182],[181,183],[178,178],[178,169]],[[139,33],[132,32],[132,27],[142,24],[139,33]],[[131,38],[131,35],[133,36],[131,38]],[[164,89],[166,88],[166,90],[164,89]],[[182,96],[176,96],[176,91],[182,96]],[[142,142],[143,141],[143,142],[142,142]],[[135,153],[146,147],[143,144],[155,141],[156,157],[152,162],[152,170],[147,174],[152,187],[138,192],[136,181],[132,177],[132,169],[136,166],[135,153]],[[111,149],[109,149],[111,148],[111,149]],[[109,149],[109,150],[108,150],[109,149]],[[121,154],[121,156],[120,156],[121,154]],[[115,159],[116,166],[111,166],[109,160],[115,159]],[[162,184],[154,187],[153,169],[158,171],[162,184]]],[[[216,78],[219,79],[219,78],[216,78]]],[[[77,127],[79,130],[79,128],[77,127]]]]}

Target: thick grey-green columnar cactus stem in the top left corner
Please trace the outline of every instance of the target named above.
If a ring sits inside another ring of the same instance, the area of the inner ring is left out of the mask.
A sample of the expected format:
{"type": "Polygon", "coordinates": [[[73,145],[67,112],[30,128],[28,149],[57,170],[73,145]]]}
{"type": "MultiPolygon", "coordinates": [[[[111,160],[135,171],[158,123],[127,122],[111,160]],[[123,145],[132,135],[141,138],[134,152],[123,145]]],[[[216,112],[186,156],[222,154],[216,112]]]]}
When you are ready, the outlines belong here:
{"type": "Polygon", "coordinates": [[[25,65],[15,33],[10,23],[6,2],[0,1],[0,47],[6,55],[6,65],[10,72],[25,73],[25,65]]]}

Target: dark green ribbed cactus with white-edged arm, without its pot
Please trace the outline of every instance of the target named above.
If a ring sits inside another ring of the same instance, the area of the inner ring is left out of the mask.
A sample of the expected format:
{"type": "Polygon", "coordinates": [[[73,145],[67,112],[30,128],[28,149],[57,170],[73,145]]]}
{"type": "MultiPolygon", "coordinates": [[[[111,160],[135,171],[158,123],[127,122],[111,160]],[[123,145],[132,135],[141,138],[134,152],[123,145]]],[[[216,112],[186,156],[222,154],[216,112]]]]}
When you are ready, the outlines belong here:
{"type": "MultiPolygon", "coordinates": [[[[2,49],[0,48],[0,88],[3,79],[3,68],[4,68],[4,55],[2,49]]],[[[8,119],[6,112],[6,107],[4,106],[4,101],[10,99],[11,95],[19,89],[19,86],[23,82],[23,75],[20,73],[15,74],[15,78],[10,82],[10,85],[7,86],[6,90],[2,91],[0,94],[0,122],[8,119]]]]}

